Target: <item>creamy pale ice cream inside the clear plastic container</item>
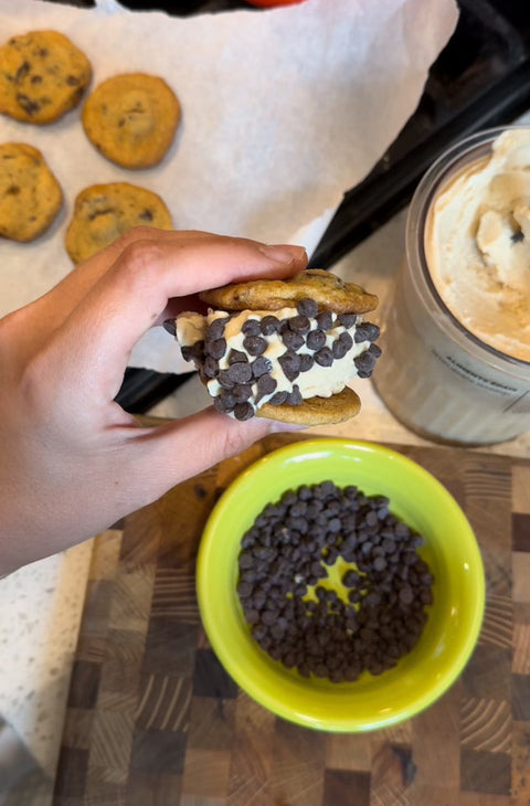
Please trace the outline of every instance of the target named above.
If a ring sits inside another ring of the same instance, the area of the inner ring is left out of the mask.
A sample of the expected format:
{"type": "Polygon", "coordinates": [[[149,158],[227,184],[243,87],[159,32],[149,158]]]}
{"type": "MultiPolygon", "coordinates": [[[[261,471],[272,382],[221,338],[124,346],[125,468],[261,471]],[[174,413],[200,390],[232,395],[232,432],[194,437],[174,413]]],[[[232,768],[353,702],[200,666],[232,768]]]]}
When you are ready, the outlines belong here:
{"type": "Polygon", "coordinates": [[[454,316],[487,344],[530,361],[530,129],[511,129],[435,199],[431,276],[454,316]]]}

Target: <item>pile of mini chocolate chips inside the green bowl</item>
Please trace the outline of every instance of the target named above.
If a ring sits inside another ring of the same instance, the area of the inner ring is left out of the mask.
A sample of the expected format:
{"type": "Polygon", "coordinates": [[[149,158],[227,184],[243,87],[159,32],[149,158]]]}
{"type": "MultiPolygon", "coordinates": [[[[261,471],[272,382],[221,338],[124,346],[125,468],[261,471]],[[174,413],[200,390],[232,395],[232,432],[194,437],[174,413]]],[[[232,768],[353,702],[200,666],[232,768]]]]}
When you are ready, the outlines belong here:
{"type": "Polygon", "coordinates": [[[237,593],[252,635],[305,677],[380,675],[427,619],[433,576],[422,543],[384,496],[332,481],[286,491],[242,539],[237,593]],[[343,597],[321,584],[339,556],[343,597]]]}

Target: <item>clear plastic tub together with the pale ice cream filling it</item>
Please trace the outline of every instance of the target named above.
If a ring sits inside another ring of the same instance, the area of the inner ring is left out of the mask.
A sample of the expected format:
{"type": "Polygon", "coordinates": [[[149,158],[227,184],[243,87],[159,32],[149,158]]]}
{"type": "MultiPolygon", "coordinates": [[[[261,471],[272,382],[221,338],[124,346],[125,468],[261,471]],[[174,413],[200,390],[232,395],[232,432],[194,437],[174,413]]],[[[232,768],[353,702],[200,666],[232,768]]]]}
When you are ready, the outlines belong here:
{"type": "Polygon", "coordinates": [[[483,445],[530,428],[530,128],[449,148],[411,202],[373,382],[423,436],[483,445]]]}

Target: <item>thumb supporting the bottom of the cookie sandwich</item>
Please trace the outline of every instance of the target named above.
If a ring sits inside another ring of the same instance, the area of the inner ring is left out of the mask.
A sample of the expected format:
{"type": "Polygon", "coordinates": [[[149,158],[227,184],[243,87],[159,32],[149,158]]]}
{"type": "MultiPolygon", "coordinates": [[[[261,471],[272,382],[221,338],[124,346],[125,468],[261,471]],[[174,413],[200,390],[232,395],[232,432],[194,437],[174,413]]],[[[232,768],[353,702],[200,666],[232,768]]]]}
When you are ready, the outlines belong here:
{"type": "Polygon", "coordinates": [[[167,425],[136,428],[128,444],[131,455],[126,462],[131,503],[135,509],[146,506],[180,481],[241,453],[267,434],[298,428],[262,417],[242,423],[213,406],[167,425]],[[132,468],[138,468],[138,477],[132,468]]]}

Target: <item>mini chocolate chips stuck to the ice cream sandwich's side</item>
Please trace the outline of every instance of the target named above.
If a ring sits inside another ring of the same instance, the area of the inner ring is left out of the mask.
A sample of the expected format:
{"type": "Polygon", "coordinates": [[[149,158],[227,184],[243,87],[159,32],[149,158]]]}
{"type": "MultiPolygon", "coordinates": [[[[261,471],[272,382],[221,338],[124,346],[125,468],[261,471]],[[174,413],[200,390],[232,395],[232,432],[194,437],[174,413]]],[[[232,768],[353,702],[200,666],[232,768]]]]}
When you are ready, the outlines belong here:
{"type": "MultiPolygon", "coordinates": [[[[343,358],[351,350],[354,342],[373,342],[379,337],[377,325],[360,322],[353,338],[343,331],[328,347],[327,331],[339,325],[351,328],[356,325],[356,315],[339,314],[335,317],[328,310],[319,314],[318,305],[312,299],[299,300],[296,311],[295,316],[287,319],[278,319],[272,314],[263,319],[247,319],[242,328],[244,351],[232,349],[227,356],[229,365],[224,369],[221,369],[220,361],[227,349],[224,329],[230,315],[214,319],[203,340],[182,348],[182,357],[187,361],[194,361],[204,382],[210,379],[219,382],[221,391],[213,400],[218,411],[233,413],[236,420],[250,420],[265,395],[272,395],[268,402],[273,405],[299,405],[303,397],[294,381],[300,372],[308,372],[315,363],[331,367],[336,359],[343,358]],[[268,346],[267,337],[276,332],[285,346],[278,362],[287,380],[293,383],[293,389],[274,394],[277,382],[271,375],[273,365],[263,353],[268,346]],[[299,352],[300,348],[304,348],[303,352],[299,352]]],[[[378,344],[370,343],[368,350],[353,359],[357,374],[369,378],[380,354],[378,344]]]]}

